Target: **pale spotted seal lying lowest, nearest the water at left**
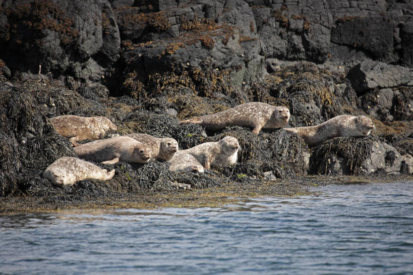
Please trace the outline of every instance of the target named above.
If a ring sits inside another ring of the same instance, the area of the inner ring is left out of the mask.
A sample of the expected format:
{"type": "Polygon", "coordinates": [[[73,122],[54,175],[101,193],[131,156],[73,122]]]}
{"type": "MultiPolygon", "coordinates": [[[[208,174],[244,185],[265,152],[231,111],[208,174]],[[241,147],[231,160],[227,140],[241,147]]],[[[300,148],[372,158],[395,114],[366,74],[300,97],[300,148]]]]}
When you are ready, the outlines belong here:
{"type": "Polygon", "coordinates": [[[93,163],[71,156],[58,158],[43,172],[43,178],[54,184],[73,185],[85,179],[107,181],[113,178],[115,170],[107,172],[93,163]]]}

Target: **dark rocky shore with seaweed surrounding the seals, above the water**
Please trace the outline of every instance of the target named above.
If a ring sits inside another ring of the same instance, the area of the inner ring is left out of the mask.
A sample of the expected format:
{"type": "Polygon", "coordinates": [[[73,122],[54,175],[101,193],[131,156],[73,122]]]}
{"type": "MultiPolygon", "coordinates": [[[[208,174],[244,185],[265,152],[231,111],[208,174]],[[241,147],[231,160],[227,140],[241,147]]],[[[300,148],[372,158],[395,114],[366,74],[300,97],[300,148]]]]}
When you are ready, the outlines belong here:
{"type": "Polygon", "coordinates": [[[411,181],[413,5],[319,4],[3,1],[0,212],[214,205],[314,184],[411,181]],[[283,129],[179,125],[252,101],[288,107],[286,127],[348,114],[375,129],[310,148],[283,129]],[[172,137],[180,149],[231,135],[238,161],[204,174],[158,160],[95,163],[115,169],[113,179],[54,186],[45,168],[76,156],[49,123],[60,115],[104,116],[121,135],[172,137]]]}

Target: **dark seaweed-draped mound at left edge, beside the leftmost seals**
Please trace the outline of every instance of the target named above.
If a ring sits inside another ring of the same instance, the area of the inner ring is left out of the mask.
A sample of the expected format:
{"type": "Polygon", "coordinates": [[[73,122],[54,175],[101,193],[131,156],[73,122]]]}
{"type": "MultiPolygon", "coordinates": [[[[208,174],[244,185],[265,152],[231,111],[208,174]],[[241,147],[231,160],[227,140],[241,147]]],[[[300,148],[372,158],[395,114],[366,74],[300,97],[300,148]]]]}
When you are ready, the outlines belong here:
{"type": "Polygon", "coordinates": [[[68,140],[54,131],[34,102],[26,89],[0,83],[1,196],[24,193],[31,176],[58,157],[74,156],[68,140]]]}

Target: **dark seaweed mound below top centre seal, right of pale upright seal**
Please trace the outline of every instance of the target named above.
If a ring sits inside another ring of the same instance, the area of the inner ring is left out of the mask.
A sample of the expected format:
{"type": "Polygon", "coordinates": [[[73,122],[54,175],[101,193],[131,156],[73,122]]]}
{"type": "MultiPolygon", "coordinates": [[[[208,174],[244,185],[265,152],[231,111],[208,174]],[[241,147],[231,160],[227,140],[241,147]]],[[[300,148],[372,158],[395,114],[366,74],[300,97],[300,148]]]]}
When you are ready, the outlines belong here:
{"type": "Polygon", "coordinates": [[[283,129],[264,129],[255,135],[246,127],[230,126],[202,142],[218,141],[225,136],[238,139],[238,160],[232,166],[215,169],[231,176],[232,180],[241,180],[243,175],[263,179],[265,172],[272,172],[275,177],[283,179],[307,174],[309,148],[297,135],[283,129]]]}

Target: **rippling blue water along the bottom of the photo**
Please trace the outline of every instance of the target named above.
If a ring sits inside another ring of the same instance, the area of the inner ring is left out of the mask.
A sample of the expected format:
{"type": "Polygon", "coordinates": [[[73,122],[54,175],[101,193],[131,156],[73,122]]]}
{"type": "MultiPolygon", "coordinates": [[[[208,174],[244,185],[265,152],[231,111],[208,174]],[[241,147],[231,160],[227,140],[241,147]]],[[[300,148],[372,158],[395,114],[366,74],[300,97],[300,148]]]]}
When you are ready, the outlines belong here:
{"type": "Polygon", "coordinates": [[[0,274],[413,274],[413,182],[219,208],[0,216],[0,274]]]}

